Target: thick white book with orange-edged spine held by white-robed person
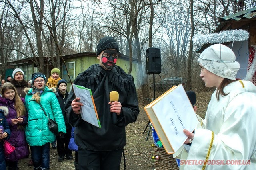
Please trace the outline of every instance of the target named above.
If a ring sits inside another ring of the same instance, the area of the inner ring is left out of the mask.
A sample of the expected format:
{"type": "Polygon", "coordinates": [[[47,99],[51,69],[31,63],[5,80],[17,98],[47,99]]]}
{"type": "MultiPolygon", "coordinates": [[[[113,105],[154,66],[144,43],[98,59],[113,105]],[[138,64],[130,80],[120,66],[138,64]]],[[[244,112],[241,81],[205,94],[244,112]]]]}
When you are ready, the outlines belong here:
{"type": "Polygon", "coordinates": [[[199,122],[182,84],[172,87],[144,109],[168,154],[176,152],[188,138],[183,129],[192,132],[199,122]]]}

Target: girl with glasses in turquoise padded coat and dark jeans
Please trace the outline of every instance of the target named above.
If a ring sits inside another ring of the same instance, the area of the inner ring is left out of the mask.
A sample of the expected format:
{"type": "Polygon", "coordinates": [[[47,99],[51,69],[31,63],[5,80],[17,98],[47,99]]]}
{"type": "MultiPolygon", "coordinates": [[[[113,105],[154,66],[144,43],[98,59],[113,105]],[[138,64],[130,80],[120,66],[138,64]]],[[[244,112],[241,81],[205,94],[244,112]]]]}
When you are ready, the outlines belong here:
{"type": "Polygon", "coordinates": [[[50,169],[50,143],[55,140],[55,135],[48,128],[48,117],[58,124],[59,135],[66,133],[64,117],[55,96],[55,88],[45,85],[46,76],[40,72],[32,75],[33,87],[26,88],[25,106],[28,110],[28,125],[26,127],[26,140],[30,145],[31,158],[34,170],[50,169]],[[40,107],[42,104],[44,111],[40,107]]]}

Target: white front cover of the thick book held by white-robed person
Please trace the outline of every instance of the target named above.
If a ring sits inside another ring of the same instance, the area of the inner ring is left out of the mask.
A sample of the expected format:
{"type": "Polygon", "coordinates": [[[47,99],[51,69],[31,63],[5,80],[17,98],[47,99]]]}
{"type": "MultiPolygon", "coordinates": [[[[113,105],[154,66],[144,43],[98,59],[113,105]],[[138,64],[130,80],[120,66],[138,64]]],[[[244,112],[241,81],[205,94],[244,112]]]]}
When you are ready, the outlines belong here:
{"type": "Polygon", "coordinates": [[[152,106],[162,129],[176,152],[186,141],[183,129],[193,131],[198,123],[183,86],[178,86],[152,106]]]}

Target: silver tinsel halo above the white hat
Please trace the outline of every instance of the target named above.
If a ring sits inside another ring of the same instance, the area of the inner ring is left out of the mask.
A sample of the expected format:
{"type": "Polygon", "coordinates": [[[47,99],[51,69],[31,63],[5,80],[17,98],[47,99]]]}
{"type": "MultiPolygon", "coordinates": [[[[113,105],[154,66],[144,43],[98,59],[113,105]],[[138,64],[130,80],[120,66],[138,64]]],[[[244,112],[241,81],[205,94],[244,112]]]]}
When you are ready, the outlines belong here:
{"type": "Polygon", "coordinates": [[[246,30],[234,29],[225,30],[220,33],[211,33],[207,35],[197,34],[193,37],[194,45],[202,46],[207,43],[226,43],[232,41],[244,41],[249,38],[249,33],[246,30]]]}

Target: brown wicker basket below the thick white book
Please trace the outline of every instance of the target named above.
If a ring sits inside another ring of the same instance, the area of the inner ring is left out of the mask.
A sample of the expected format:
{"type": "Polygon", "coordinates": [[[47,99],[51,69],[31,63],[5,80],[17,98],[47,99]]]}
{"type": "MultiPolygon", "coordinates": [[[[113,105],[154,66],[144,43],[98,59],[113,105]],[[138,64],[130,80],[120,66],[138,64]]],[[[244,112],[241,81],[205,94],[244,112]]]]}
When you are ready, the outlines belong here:
{"type": "Polygon", "coordinates": [[[158,155],[159,159],[154,161],[156,170],[179,170],[176,159],[172,154],[167,154],[164,148],[156,145],[153,147],[154,156],[158,155]]]}

